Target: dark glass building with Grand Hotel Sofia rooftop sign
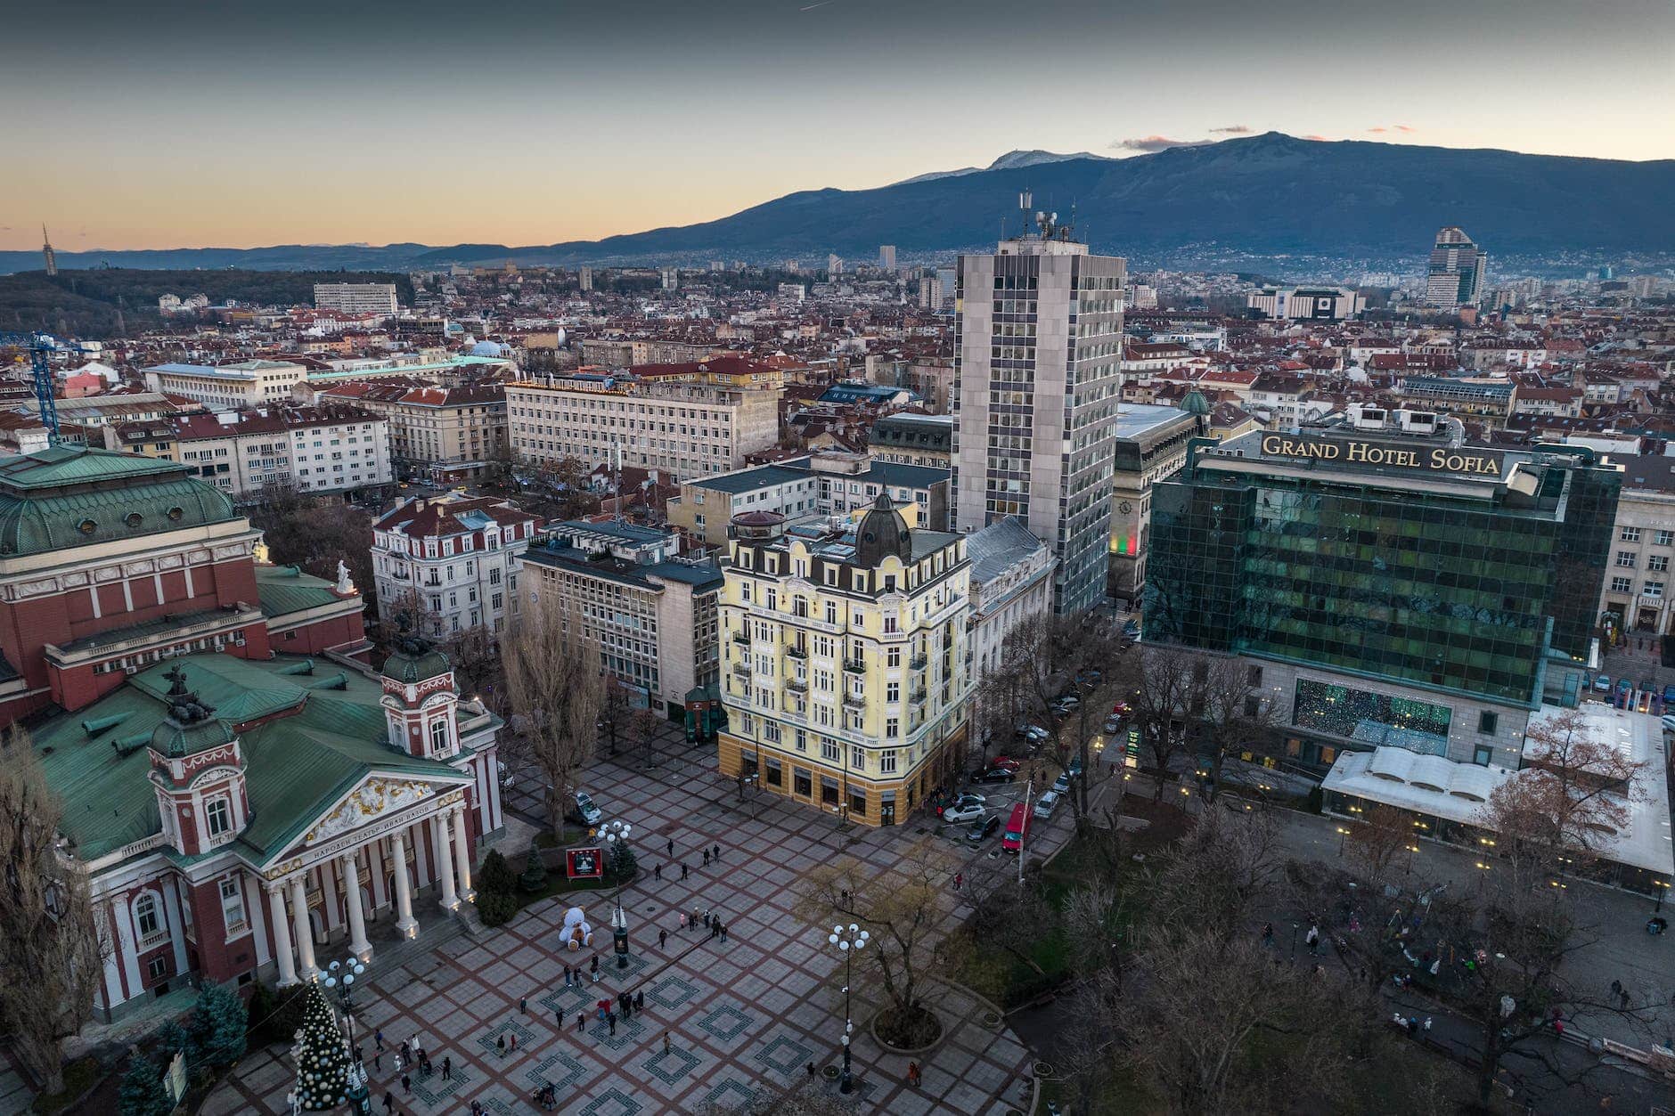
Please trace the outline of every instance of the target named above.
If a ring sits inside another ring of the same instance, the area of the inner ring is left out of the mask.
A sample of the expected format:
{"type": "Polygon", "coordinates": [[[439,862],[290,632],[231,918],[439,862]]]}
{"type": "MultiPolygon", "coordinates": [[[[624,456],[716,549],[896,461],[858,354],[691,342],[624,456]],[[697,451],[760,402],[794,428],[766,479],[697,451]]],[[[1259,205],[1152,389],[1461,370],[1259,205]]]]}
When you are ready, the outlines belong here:
{"type": "Polygon", "coordinates": [[[1152,489],[1146,642],[1241,657],[1312,767],[1389,746],[1516,769],[1531,714],[1598,665],[1623,473],[1462,442],[1377,407],[1194,442],[1152,489]]]}

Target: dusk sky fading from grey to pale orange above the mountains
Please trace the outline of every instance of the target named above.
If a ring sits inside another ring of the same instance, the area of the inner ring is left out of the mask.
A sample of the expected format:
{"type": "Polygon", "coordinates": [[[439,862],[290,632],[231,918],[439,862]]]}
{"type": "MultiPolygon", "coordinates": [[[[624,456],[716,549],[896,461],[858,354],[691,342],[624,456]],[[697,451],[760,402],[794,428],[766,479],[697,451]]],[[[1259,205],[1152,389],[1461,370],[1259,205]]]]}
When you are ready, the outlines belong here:
{"type": "Polygon", "coordinates": [[[1270,129],[1675,158],[1667,0],[28,7],[0,248],[543,245],[1270,129]]]}

